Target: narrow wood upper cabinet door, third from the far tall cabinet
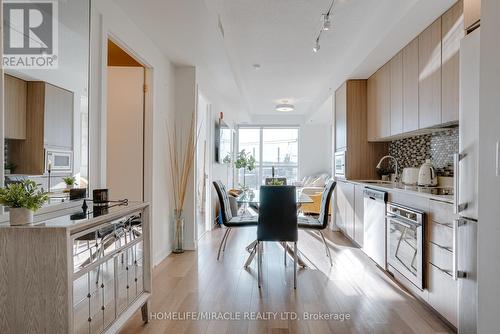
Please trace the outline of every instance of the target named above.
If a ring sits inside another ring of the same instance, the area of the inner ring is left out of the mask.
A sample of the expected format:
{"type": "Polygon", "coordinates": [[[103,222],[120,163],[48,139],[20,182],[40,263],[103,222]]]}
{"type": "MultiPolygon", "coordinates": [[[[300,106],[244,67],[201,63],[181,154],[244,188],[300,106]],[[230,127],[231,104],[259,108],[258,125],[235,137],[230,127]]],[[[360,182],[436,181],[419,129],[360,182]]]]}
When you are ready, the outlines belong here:
{"type": "Polygon", "coordinates": [[[403,133],[403,53],[390,61],[391,69],[391,136],[403,133]]]}

